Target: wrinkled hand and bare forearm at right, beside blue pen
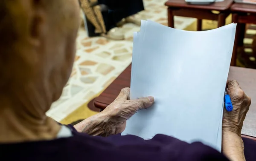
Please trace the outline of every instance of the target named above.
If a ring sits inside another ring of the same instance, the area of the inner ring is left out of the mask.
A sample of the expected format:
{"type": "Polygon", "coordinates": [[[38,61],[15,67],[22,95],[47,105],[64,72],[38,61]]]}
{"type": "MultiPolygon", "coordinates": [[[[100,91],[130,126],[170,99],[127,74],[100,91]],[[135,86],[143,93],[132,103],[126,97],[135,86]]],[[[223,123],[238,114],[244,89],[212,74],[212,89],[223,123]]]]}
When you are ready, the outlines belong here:
{"type": "Polygon", "coordinates": [[[228,80],[227,88],[227,94],[230,95],[233,104],[233,110],[228,112],[224,109],[223,111],[222,152],[230,161],[245,161],[241,130],[251,99],[240,88],[236,80],[228,80]]]}

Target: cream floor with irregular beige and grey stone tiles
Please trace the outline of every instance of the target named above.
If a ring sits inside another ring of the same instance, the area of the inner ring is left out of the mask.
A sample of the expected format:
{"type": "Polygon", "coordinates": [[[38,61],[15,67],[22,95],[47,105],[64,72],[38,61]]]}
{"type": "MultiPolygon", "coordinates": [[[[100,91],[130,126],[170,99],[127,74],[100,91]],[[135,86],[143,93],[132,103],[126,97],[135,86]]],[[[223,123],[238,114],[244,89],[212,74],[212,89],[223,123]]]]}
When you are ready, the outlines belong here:
{"type": "MultiPolygon", "coordinates": [[[[139,14],[144,20],[150,19],[167,25],[166,0],[144,0],[145,11],[139,14]]],[[[175,17],[175,28],[184,29],[195,19],[175,17]]],[[[105,89],[130,63],[133,32],[139,26],[128,23],[123,26],[125,40],[108,40],[104,37],[87,37],[84,28],[77,37],[77,53],[73,72],[63,90],[61,98],[52,104],[47,115],[61,121],[83,103],[105,89]]]]}

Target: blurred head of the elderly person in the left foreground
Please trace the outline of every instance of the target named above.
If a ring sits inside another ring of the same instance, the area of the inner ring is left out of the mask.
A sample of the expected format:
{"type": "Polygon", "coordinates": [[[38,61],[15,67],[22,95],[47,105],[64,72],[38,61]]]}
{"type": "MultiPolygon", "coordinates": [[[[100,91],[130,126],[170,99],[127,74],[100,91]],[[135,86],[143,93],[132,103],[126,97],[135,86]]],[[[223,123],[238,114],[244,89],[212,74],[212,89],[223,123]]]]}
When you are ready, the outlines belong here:
{"type": "Polygon", "coordinates": [[[0,115],[26,118],[13,126],[48,124],[72,70],[79,11],[77,0],[0,0],[0,115]]]}

